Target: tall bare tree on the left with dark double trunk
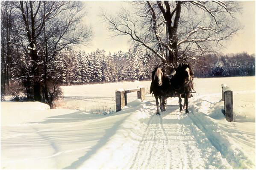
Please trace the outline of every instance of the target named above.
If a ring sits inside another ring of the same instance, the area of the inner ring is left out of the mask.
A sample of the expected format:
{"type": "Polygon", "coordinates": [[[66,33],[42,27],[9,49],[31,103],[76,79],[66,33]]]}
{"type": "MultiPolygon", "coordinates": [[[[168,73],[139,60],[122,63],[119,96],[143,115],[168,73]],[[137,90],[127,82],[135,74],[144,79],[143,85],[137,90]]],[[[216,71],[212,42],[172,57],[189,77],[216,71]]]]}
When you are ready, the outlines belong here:
{"type": "Polygon", "coordinates": [[[29,51],[31,61],[34,98],[48,98],[48,66],[58,51],[66,46],[86,44],[91,40],[91,29],[81,24],[85,16],[84,4],[79,1],[20,1],[16,28],[19,40],[16,45],[29,51]]]}

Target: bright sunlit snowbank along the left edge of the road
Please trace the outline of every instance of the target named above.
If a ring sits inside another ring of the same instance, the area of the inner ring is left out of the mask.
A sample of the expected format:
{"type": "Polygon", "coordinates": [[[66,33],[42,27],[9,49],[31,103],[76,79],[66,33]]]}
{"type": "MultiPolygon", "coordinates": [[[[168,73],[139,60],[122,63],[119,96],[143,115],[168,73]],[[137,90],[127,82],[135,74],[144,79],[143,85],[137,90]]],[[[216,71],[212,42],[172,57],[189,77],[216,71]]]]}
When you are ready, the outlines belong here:
{"type": "Polygon", "coordinates": [[[140,100],[136,100],[124,107],[119,113],[129,113],[129,116],[116,127],[115,134],[97,151],[97,154],[83,162],[79,168],[120,169],[125,167],[124,162],[133,159],[132,153],[136,152],[150,116],[152,116],[152,114],[145,112],[148,105],[150,105],[149,102],[141,104],[140,100]],[[106,153],[109,153],[107,157],[106,153]],[[100,163],[95,164],[95,160],[100,163]]]}

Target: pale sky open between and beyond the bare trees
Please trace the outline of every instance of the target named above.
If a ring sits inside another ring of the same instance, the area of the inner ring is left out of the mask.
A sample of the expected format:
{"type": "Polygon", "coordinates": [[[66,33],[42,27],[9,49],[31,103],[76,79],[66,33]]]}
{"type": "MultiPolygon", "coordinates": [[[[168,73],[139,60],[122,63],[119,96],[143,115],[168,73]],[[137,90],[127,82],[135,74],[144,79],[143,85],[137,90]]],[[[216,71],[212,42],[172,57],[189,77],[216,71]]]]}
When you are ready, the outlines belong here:
{"type": "MultiPolygon", "coordinates": [[[[238,20],[244,26],[244,29],[239,31],[231,41],[226,44],[222,52],[224,53],[239,53],[247,52],[248,54],[255,53],[255,2],[241,2],[243,9],[238,15],[238,20]]],[[[91,25],[94,32],[93,40],[89,47],[79,46],[80,49],[86,52],[91,52],[99,49],[104,49],[107,53],[115,51],[128,51],[130,44],[129,37],[119,36],[109,38],[111,33],[106,30],[106,23],[102,22],[99,16],[102,9],[108,13],[115,13],[120,10],[121,6],[128,7],[127,2],[123,1],[85,1],[87,16],[85,22],[91,25]]]]}

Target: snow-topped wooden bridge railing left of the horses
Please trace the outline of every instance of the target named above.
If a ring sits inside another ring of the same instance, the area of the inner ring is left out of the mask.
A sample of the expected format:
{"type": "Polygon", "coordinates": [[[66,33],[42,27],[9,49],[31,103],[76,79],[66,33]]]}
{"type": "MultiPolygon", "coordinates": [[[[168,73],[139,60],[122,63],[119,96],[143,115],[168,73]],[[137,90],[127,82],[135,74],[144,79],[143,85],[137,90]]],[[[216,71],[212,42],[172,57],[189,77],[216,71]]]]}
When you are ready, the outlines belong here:
{"type": "Polygon", "coordinates": [[[116,112],[121,111],[124,106],[127,105],[127,93],[132,93],[137,91],[137,98],[141,99],[141,102],[145,99],[145,88],[138,87],[134,89],[118,89],[115,91],[115,108],[116,112]]]}

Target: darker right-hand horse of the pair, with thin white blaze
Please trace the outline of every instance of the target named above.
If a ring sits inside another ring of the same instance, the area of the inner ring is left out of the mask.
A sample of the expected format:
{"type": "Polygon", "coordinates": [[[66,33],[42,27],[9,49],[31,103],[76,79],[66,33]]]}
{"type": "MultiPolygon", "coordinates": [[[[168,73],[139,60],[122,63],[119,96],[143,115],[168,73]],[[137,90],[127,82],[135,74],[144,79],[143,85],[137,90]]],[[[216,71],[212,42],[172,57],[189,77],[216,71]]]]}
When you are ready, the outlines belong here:
{"type": "Polygon", "coordinates": [[[189,113],[188,111],[188,98],[192,95],[190,94],[193,88],[193,79],[194,74],[191,70],[190,64],[179,64],[177,68],[174,68],[176,74],[170,79],[171,91],[174,91],[175,94],[179,97],[179,111],[182,111],[182,99],[184,98],[185,114],[189,113]]]}

